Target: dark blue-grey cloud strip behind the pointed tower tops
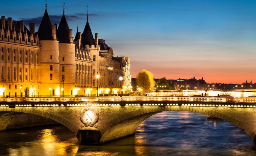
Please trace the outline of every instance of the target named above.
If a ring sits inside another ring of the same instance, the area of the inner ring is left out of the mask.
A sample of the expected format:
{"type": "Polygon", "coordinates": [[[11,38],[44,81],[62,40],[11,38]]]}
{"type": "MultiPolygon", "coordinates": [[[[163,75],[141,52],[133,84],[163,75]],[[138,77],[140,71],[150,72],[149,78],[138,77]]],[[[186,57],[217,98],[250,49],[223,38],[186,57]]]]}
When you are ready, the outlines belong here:
{"type": "MultiPolygon", "coordinates": [[[[98,16],[99,14],[88,14],[88,16],[98,16]]],[[[49,15],[51,23],[57,23],[61,21],[62,15],[49,15]]],[[[65,15],[67,21],[73,21],[77,19],[86,19],[86,14],[85,13],[75,13],[72,15],[65,15]]],[[[36,18],[21,18],[20,20],[24,20],[26,24],[29,23],[35,23],[36,26],[39,26],[41,21],[42,21],[43,16],[36,17],[36,18]]]]}

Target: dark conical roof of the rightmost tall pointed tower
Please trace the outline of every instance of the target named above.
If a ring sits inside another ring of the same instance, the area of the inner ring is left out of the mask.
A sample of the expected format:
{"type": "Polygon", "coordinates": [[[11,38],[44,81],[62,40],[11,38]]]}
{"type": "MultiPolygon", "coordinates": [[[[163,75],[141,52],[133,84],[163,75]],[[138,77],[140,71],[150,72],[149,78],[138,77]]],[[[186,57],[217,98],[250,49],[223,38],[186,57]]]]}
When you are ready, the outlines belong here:
{"type": "Polygon", "coordinates": [[[94,45],[94,38],[93,38],[93,33],[91,32],[91,28],[90,28],[90,25],[89,25],[89,22],[88,22],[88,18],[87,18],[87,22],[86,22],[86,25],[85,25],[85,29],[83,30],[83,33],[82,33],[82,45],[85,46],[85,45],[94,45]]]}

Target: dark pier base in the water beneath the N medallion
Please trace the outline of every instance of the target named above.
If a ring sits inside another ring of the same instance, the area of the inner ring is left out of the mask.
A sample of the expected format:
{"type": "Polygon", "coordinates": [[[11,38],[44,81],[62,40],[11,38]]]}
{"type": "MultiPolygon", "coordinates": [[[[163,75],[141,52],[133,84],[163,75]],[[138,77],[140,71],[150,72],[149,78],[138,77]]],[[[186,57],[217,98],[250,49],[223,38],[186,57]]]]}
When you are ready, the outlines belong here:
{"type": "Polygon", "coordinates": [[[78,129],[77,139],[79,145],[99,145],[101,132],[99,129],[78,129]]]}

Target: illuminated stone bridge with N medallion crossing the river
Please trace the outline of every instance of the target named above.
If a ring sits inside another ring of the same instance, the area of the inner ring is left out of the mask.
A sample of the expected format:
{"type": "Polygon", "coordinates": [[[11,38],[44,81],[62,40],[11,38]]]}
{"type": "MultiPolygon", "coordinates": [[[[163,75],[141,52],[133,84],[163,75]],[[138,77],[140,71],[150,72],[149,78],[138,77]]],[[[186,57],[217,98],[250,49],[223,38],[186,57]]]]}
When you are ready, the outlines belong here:
{"type": "MultiPolygon", "coordinates": [[[[42,116],[66,126],[80,144],[99,144],[134,134],[142,121],[161,111],[191,111],[230,122],[256,142],[256,98],[172,98],[9,98],[0,99],[0,113],[42,116]]],[[[2,129],[8,126],[3,116],[0,121],[2,129]]]]}

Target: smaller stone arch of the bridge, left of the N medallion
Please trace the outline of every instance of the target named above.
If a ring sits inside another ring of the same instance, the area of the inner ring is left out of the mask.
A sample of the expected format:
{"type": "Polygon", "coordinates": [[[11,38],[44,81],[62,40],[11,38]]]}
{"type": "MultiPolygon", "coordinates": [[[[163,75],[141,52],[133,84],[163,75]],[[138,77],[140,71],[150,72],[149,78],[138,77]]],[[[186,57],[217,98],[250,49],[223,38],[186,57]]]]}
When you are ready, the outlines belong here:
{"type": "Polygon", "coordinates": [[[63,126],[67,127],[71,132],[77,135],[78,132],[78,126],[76,126],[74,123],[71,121],[62,118],[61,116],[55,115],[53,113],[49,113],[47,111],[42,111],[38,110],[35,108],[30,108],[30,107],[15,107],[15,108],[6,108],[5,110],[1,110],[0,112],[17,112],[17,113],[28,113],[32,115],[38,115],[42,116],[48,119],[51,119],[53,121],[56,121],[57,123],[62,124],[63,126]]]}

